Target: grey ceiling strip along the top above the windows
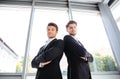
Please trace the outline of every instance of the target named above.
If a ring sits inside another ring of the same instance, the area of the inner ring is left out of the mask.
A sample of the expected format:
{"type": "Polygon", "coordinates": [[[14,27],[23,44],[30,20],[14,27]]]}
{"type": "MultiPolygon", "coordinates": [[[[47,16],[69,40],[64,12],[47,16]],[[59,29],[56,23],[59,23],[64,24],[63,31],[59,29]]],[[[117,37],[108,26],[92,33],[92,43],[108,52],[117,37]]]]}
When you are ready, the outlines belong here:
{"type": "MultiPolygon", "coordinates": [[[[35,6],[98,10],[98,3],[108,1],[109,7],[113,7],[119,0],[35,0],[35,6]],[[70,3],[69,3],[70,2],[70,3]]],[[[0,0],[0,5],[31,6],[32,0],[0,0]]]]}

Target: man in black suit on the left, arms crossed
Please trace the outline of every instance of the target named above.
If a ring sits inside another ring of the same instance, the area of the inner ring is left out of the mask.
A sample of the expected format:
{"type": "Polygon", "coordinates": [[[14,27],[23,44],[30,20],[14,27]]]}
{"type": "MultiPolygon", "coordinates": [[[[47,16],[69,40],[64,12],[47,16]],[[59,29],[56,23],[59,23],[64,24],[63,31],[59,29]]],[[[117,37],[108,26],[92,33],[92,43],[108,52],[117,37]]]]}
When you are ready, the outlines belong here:
{"type": "Polygon", "coordinates": [[[36,79],[62,79],[59,62],[63,56],[64,42],[56,39],[58,27],[55,23],[47,26],[48,41],[42,46],[31,64],[37,68],[36,79]]]}

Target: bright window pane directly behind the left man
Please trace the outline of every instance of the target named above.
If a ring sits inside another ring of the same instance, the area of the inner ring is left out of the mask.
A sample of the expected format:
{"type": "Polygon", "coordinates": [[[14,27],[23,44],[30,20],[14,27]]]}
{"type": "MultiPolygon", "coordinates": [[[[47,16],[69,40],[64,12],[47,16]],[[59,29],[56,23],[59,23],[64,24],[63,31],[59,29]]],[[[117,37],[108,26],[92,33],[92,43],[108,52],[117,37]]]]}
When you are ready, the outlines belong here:
{"type": "MultiPolygon", "coordinates": [[[[32,29],[31,45],[30,45],[30,60],[38,53],[38,50],[46,42],[47,38],[47,24],[54,22],[58,25],[57,38],[63,39],[66,34],[65,25],[68,22],[67,11],[64,10],[41,10],[35,9],[34,23],[32,29]]],[[[61,69],[66,69],[66,59],[63,56],[61,60],[61,69]]],[[[31,68],[31,61],[28,63],[28,73],[36,72],[35,68],[31,68]]]]}

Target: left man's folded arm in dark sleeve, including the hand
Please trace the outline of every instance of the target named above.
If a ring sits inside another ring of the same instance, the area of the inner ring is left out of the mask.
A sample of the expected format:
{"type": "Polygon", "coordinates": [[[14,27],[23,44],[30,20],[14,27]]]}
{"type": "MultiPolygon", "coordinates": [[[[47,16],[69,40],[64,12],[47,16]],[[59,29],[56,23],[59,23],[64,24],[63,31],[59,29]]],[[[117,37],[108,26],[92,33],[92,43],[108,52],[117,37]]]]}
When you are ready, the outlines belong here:
{"type": "Polygon", "coordinates": [[[41,54],[38,54],[33,59],[32,67],[38,68],[51,63],[53,59],[63,54],[63,49],[64,49],[64,42],[62,40],[57,40],[54,46],[50,47],[46,51],[42,51],[41,54]]]}

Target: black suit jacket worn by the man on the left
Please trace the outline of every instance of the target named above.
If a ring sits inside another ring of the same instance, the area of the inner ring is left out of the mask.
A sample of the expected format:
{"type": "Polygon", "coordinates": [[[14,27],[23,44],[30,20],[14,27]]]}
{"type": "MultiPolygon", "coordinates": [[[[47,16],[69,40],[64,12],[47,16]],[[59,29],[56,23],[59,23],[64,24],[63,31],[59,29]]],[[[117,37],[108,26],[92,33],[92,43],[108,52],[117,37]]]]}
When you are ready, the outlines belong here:
{"type": "Polygon", "coordinates": [[[34,57],[31,64],[33,68],[37,68],[36,79],[62,79],[59,62],[63,55],[63,40],[54,39],[47,47],[40,48],[37,56],[34,57]],[[39,63],[51,61],[43,68],[39,67],[39,63]]]}

